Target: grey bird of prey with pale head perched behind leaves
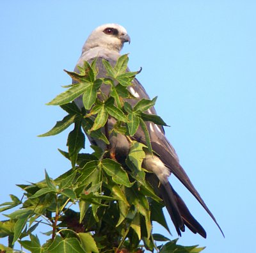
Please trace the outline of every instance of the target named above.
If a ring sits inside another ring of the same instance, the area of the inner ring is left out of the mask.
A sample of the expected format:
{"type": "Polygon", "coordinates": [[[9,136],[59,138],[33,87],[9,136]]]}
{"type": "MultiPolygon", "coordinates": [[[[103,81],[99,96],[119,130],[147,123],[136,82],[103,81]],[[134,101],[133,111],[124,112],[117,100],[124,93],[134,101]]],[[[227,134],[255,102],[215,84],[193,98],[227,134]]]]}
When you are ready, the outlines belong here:
{"type": "MultiPolygon", "coordinates": [[[[107,77],[106,70],[102,64],[102,59],[105,59],[112,66],[115,66],[118,57],[121,56],[120,51],[126,42],[131,43],[131,38],[123,26],[120,26],[119,24],[104,24],[97,27],[92,31],[84,43],[81,57],[79,57],[77,61],[74,72],[79,73],[79,68],[77,66],[83,66],[84,61],[92,63],[94,59],[97,59],[97,77],[107,77]]],[[[129,68],[127,68],[127,71],[129,71],[129,68]]],[[[73,83],[76,83],[76,81],[73,81],[73,83]]],[[[102,84],[100,89],[103,93],[109,93],[109,86],[102,84]]],[[[136,78],[134,78],[132,86],[129,86],[128,89],[137,99],[150,99],[147,92],[136,78]]],[[[134,106],[136,102],[138,102],[138,100],[132,99],[130,104],[134,106]]],[[[81,97],[76,98],[75,103],[79,109],[84,107],[83,99],[81,97]]],[[[157,114],[154,107],[148,109],[146,113],[157,114]]],[[[113,127],[115,122],[116,120],[114,118],[109,117],[109,128],[113,127]]],[[[188,188],[189,192],[191,192],[191,194],[193,194],[197,201],[203,206],[205,211],[207,211],[223,234],[216,218],[204,203],[204,200],[200,197],[200,194],[180,165],[177,153],[164,134],[164,128],[161,125],[156,125],[150,121],[147,121],[146,125],[150,135],[150,142],[154,155],[152,155],[152,153],[146,153],[142,166],[144,169],[151,172],[147,173],[147,180],[154,188],[156,194],[163,199],[164,205],[170,214],[177,234],[181,236],[181,232],[184,232],[185,227],[188,227],[188,229],[195,234],[198,233],[204,238],[207,236],[204,227],[202,227],[193,217],[180,195],[170,184],[168,178],[171,174],[174,174],[179,181],[188,188]]],[[[98,139],[92,139],[92,137],[88,138],[92,144],[100,146],[100,148],[106,150],[106,144],[104,142],[98,139]]],[[[144,132],[140,127],[131,139],[141,142],[142,144],[146,144],[144,132]]],[[[129,154],[131,144],[125,135],[111,135],[109,136],[109,143],[111,147],[110,151],[115,154],[116,160],[121,160],[129,154]]]]}

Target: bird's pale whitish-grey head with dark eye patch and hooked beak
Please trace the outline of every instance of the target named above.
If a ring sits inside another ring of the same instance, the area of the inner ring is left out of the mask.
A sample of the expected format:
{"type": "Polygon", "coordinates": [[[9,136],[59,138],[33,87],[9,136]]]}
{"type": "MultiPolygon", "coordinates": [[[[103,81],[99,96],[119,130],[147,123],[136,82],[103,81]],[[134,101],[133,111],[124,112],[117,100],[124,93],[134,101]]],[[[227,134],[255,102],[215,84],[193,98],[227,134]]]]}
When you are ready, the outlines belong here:
{"type": "Polygon", "coordinates": [[[120,52],[125,42],[131,42],[124,27],[118,24],[104,24],[97,27],[84,43],[83,51],[103,47],[120,52]]]}

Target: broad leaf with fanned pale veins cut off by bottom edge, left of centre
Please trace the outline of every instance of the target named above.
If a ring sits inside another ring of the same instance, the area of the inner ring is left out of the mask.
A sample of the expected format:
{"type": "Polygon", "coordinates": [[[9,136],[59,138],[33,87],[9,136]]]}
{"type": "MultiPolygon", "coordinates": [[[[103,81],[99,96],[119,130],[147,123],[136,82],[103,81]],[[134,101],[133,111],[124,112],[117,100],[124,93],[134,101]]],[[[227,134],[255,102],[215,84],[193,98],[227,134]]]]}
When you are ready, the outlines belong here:
{"type": "Polygon", "coordinates": [[[51,253],[86,253],[77,238],[63,239],[60,236],[56,236],[47,251],[51,253]]]}

